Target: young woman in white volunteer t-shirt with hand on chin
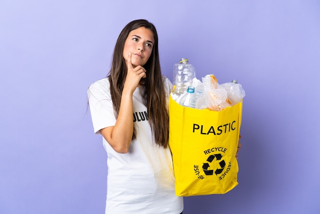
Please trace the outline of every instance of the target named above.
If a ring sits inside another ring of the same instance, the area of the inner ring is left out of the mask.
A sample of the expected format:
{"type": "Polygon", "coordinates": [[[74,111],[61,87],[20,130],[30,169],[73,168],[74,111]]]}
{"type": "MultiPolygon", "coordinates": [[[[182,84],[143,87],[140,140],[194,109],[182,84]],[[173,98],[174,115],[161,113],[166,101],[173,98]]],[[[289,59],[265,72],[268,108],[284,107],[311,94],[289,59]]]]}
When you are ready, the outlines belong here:
{"type": "Polygon", "coordinates": [[[120,33],[108,76],[90,85],[94,131],[108,160],[106,213],[179,214],[168,146],[168,98],[153,24],[134,20],[120,33]]]}

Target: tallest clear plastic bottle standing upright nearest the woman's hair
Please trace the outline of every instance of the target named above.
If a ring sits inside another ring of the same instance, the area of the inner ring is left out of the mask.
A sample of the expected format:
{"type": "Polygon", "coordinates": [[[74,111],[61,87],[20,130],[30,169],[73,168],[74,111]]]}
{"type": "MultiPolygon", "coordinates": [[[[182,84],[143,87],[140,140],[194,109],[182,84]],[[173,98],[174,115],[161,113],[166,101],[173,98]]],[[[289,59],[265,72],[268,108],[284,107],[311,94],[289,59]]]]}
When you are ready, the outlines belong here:
{"type": "Polygon", "coordinates": [[[189,85],[192,85],[193,78],[196,77],[195,68],[189,64],[187,58],[181,58],[180,63],[173,66],[173,94],[179,96],[187,91],[189,85]]]}

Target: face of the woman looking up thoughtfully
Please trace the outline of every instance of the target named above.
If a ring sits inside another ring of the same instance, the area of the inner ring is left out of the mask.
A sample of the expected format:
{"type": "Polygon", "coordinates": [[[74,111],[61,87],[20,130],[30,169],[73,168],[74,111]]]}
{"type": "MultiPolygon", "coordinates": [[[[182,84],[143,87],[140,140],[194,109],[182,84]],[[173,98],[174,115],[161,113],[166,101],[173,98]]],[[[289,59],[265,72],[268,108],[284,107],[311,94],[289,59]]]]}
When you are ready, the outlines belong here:
{"type": "Polygon", "coordinates": [[[123,58],[127,61],[131,52],[132,67],[144,66],[153,49],[154,38],[151,30],[140,27],[130,31],[123,49],[123,58]]]}

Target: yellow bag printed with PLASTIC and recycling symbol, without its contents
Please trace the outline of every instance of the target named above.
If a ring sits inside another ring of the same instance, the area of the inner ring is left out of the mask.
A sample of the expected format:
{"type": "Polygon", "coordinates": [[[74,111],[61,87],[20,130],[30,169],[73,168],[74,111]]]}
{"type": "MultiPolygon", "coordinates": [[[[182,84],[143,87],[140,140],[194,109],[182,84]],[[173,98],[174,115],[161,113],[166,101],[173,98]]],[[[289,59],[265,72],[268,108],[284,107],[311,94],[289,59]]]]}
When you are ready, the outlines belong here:
{"type": "Polygon", "coordinates": [[[238,185],[242,102],[223,111],[169,101],[169,146],[177,196],[224,194],[238,185]]]}

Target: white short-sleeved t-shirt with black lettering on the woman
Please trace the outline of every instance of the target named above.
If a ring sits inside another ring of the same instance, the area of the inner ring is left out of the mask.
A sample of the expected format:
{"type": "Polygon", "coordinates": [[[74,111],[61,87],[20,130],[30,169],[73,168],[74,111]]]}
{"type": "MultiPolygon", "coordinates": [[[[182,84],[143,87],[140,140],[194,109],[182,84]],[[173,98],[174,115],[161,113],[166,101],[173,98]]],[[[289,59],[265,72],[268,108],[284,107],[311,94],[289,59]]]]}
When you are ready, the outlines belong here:
{"type": "MultiPolygon", "coordinates": [[[[169,98],[172,84],[167,77],[163,79],[169,98]]],[[[140,90],[144,87],[136,88],[133,93],[136,138],[131,141],[129,152],[117,153],[103,138],[108,156],[105,213],[178,214],[183,209],[183,201],[175,195],[171,152],[169,146],[163,148],[153,142],[140,90]]],[[[108,78],[90,85],[88,99],[96,134],[115,125],[108,78]]]]}

